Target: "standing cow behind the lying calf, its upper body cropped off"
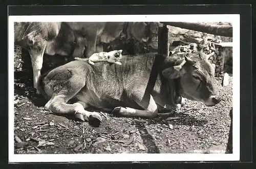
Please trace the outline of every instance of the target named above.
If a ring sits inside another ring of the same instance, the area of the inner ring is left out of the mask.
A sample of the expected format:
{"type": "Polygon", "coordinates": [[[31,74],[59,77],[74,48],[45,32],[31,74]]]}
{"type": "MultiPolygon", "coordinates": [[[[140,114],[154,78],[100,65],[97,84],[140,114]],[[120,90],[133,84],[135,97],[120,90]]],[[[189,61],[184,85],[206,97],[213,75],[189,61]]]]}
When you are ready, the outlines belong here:
{"type": "Polygon", "coordinates": [[[102,52],[101,43],[109,43],[116,38],[134,38],[150,42],[155,22],[15,22],[15,42],[30,53],[34,87],[39,93],[38,79],[42,68],[42,57],[63,55],[86,57],[102,52]]]}

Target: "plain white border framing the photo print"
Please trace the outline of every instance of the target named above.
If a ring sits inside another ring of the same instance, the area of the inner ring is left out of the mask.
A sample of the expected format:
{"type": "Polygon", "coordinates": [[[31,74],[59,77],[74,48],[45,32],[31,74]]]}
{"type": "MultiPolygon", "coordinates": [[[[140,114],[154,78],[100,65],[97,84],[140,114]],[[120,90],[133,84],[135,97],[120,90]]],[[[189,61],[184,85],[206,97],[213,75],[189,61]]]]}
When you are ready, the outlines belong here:
{"type": "Polygon", "coordinates": [[[238,161],[240,160],[240,15],[30,15],[8,17],[9,162],[238,161]],[[233,153],[232,154],[14,154],[14,22],[186,21],[231,22],[233,27],[233,153]]]}

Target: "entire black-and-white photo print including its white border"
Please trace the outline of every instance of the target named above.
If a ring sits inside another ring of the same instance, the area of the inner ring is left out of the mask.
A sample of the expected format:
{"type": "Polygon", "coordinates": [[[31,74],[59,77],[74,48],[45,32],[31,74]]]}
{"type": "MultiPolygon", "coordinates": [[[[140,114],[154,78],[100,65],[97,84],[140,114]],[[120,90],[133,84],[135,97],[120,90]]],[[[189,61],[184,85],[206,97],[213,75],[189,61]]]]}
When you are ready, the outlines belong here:
{"type": "Polygon", "coordinates": [[[10,162],[239,160],[239,14],[9,16],[8,34],[10,162]]]}

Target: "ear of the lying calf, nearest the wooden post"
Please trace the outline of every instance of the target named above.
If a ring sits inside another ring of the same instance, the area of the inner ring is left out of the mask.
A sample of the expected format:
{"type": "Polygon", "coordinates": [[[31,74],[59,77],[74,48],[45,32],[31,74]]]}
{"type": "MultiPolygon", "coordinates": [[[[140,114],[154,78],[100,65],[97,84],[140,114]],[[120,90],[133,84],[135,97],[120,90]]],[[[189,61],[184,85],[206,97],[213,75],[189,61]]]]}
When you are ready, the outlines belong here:
{"type": "Polygon", "coordinates": [[[166,78],[176,79],[185,74],[184,68],[181,65],[168,67],[162,71],[162,75],[166,78]]]}

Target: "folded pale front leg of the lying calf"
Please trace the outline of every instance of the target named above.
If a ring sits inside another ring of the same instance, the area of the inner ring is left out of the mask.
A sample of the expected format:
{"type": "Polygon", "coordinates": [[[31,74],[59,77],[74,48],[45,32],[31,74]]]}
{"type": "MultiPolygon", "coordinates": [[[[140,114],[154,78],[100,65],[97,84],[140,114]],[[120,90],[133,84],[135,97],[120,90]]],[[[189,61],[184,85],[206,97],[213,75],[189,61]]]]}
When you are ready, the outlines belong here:
{"type": "Polygon", "coordinates": [[[138,110],[130,107],[125,107],[125,108],[116,107],[112,111],[112,113],[116,115],[126,116],[126,117],[143,117],[143,118],[153,118],[157,115],[158,108],[152,95],[150,95],[149,103],[143,103],[143,101],[140,101],[139,99],[134,99],[134,100],[141,107],[145,107],[145,105],[147,105],[146,108],[144,110],[138,110]]]}

